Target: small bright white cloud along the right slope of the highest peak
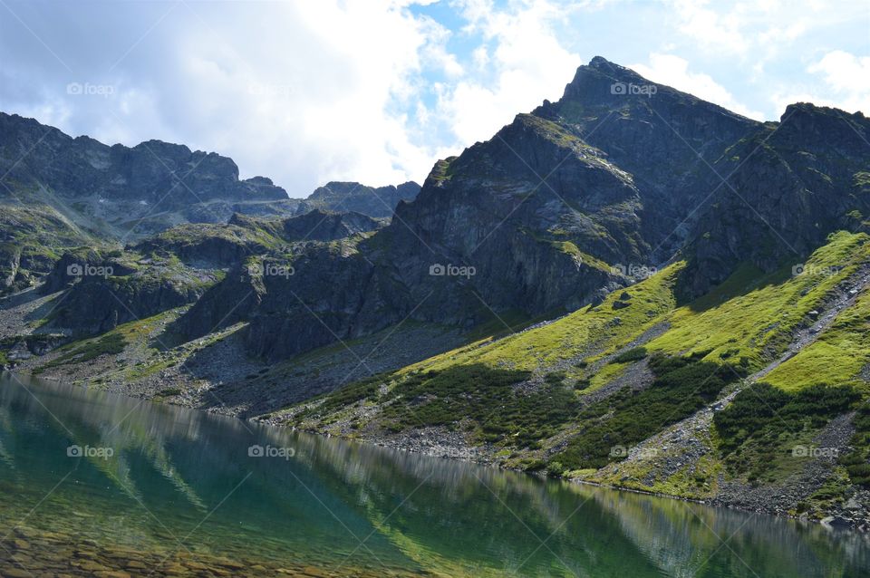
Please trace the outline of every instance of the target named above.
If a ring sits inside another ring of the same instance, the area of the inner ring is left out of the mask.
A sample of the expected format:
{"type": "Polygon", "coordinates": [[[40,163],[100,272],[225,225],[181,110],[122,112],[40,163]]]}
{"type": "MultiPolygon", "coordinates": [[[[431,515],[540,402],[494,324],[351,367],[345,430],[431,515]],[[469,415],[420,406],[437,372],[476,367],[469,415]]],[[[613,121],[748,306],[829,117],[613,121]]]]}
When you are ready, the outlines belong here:
{"type": "Polygon", "coordinates": [[[764,115],[753,111],[737,101],[734,96],[702,72],[690,72],[689,62],[673,54],[650,54],[650,63],[629,66],[643,77],[660,84],[666,84],[682,92],[689,92],[705,101],[714,102],[730,111],[750,119],[764,120],[764,115]]]}

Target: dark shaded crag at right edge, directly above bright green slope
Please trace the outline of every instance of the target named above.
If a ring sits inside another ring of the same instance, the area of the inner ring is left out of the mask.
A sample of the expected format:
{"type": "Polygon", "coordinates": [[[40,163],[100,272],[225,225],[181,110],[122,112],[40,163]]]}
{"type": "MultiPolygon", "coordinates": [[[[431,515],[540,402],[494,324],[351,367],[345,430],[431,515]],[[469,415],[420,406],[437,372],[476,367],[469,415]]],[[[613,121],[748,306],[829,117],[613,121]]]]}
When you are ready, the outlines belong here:
{"type": "Polygon", "coordinates": [[[703,294],[741,261],[764,270],[798,265],[832,231],[866,230],[870,120],[798,103],[778,124],[739,140],[717,163],[718,188],[684,253],[691,294],[703,294]]]}

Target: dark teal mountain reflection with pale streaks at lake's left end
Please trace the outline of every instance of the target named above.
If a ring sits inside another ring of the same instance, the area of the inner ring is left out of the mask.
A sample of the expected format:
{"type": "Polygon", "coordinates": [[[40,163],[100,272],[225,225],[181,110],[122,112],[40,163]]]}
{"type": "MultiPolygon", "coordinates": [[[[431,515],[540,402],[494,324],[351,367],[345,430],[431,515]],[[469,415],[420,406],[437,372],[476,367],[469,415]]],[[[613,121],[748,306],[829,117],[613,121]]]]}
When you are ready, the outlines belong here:
{"type": "MultiPolygon", "coordinates": [[[[349,530],[367,535],[373,529],[304,464],[249,457],[250,446],[266,443],[264,430],[238,419],[8,377],[0,378],[3,410],[9,419],[0,422],[0,443],[10,448],[9,470],[22,469],[34,495],[72,471],[52,494],[53,510],[74,509],[89,529],[99,519],[115,535],[140,536],[147,525],[145,534],[168,536],[170,547],[196,529],[195,539],[217,550],[232,543],[279,557],[309,552],[313,544],[324,554],[327,544],[349,554],[358,544],[349,530]],[[111,448],[112,455],[69,458],[73,444],[111,448]]],[[[367,545],[381,548],[384,561],[402,558],[381,536],[367,545]]]]}

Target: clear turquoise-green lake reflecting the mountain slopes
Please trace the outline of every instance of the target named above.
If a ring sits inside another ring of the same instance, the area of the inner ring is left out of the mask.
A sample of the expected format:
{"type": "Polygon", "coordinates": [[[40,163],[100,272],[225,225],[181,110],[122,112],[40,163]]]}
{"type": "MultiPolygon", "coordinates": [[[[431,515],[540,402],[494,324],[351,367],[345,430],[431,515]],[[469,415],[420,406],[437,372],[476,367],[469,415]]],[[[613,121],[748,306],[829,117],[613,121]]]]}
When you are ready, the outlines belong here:
{"type": "Polygon", "coordinates": [[[851,532],[24,380],[0,377],[0,534],[337,574],[870,576],[851,532]]]}

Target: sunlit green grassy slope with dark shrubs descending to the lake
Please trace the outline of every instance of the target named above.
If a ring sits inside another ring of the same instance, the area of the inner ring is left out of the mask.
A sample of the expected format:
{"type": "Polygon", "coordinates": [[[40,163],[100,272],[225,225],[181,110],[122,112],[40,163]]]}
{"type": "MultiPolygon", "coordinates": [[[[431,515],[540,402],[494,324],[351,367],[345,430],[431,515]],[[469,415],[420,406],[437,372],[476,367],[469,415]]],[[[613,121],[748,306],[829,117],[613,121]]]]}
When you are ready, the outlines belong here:
{"type": "Polygon", "coordinates": [[[686,266],[263,419],[870,530],[870,236],[681,305],[686,266]]]}

